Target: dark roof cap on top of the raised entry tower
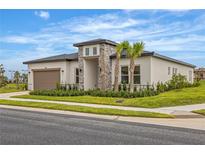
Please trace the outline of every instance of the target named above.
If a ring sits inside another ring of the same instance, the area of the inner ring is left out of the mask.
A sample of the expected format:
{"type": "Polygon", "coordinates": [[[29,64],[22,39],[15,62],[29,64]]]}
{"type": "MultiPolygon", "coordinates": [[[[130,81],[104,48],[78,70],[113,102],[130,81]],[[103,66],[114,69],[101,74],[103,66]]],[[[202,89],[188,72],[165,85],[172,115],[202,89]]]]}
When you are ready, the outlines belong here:
{"type": "Polygon", "coordinates": [[[90,40],[90,41],[85,41],[85,42],[80,42],[80,43],[75,43],[73,44],[74,47],[80,47],[80,46],[84,46],[84,45],[93,45],[93,44],[101,44],[101,43],[107,43],[107,44],[111,44],[116,46],[117,43],[111,40],[107,40],[107,39],[94,39],[94,40],[90,40]]]}

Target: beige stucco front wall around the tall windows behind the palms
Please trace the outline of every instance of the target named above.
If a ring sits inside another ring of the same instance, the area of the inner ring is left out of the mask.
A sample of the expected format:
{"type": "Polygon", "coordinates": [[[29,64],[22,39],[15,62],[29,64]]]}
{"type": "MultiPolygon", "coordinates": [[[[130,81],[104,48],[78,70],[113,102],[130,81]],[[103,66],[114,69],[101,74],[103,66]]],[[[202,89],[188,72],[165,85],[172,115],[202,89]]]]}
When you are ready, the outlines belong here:
{"type": "MultiPolygon", "coordinates": [[[[119,83],[121,83],[121,66],[128,66],[130,60],[128,58],[122,58],[120,60],[120,71],[119,71],[119,83]]],[[[135,60],[135,65],[140,65],[141,73],[141,84],[151,84],[151,57],[139,57],[135,60]]],[[[115,70],[115,59],[112,60],[112,84],[114,84],[114,70],[115,70]]]]}

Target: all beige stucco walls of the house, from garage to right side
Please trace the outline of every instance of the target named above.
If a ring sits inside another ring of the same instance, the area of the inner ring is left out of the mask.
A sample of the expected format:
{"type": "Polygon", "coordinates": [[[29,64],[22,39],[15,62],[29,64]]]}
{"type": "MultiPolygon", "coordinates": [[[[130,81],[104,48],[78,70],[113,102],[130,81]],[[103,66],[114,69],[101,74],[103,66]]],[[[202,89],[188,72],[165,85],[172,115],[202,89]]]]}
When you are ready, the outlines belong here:
{"type": "MultiPolygon", "coordinates": [[[[98,64],[95,61],[85,60],[84,65],[84,80],[85,80],[85,89],[93,88],[97,82],[97,71],[98,64]],[[89,69],[88,69],[89,68],[89,69]]],[[[120,60],[120,66],[129,67],[129,59],[122,58],[120,60]]],[[[156,84],[157,82],[165,82],[171,79],[172,77],[172,68],[177,68],[177,73],[186,75],[189,79],[189,71],[192,72],[193,82],[193,68],[185,65],[177,64],[174,62],[162,60],[155,57],[140,57],[135,61],[135,65],[140,65],[141,72],[141,84],[156,84]],[[168,67],[171,68],[171,74],[168,75],[168,67]]],[[[111,63],[111,77],[112,84],[114,84],[114,68],[115,68],[115,59],[112,59],[111,63]]],[[[29,74],[28,74],[28,89],[33,90],[33,69],[53,69],[60,68],[60,81],[61,83],[75,83],[75,69],[79,67],[78,61],[62,61],[62,62],[47,62],[47,63],[36,63],[29,64],[29,74]]],[[[121,67],[120,67],[121,68],[121,67]]],[[[121,70],[119,71],[119,83],[121,83],[121,70]]]]}

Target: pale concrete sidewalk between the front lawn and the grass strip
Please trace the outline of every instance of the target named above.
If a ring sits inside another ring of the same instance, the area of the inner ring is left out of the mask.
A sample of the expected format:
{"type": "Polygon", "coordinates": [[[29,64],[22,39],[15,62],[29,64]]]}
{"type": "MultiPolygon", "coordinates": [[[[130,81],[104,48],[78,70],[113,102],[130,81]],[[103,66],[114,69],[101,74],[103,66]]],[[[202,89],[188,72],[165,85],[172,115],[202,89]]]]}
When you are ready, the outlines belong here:
{"type": "Polygon", "coordinates": [[[112,109],[120,109],[120,110],[158,112],[158,113],[165,113],[165,114],[173,114],[179,118],[202,117],[201,115],[192,113],[191,111],[205,109],[205,104],[185,105],[185,106],[176,106],[176,107],[162,107],[162,108],[140,108],[140,107],[113,106],[113,105],[88,104],[88,103],[76,103],[76,102],[11,98],[12,96],[26,95],[26,94],[29,94],[29,91],[4,93],[4,94],[0,94],[0,99],[15,100],[15,101],[57,103],[57,104],[65,104],[65,105],[80,105],[80,106],[95,107],[95,108],[112,108],[112,109]]]}

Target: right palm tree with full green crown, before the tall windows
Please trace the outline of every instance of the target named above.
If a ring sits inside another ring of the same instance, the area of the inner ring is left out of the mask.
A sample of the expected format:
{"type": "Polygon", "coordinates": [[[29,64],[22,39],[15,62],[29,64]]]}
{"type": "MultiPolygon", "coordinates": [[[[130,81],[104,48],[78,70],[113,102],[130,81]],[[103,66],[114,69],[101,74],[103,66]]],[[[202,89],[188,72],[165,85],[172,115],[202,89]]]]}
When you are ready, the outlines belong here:
{"type": "Polygon", "coordinates": [[[144,46],[145,44],[143,42],[136,42],[127,48],[127,54],[130,58],[130,92],[134,91],[135,60],[142,54],[144,46]]]}

